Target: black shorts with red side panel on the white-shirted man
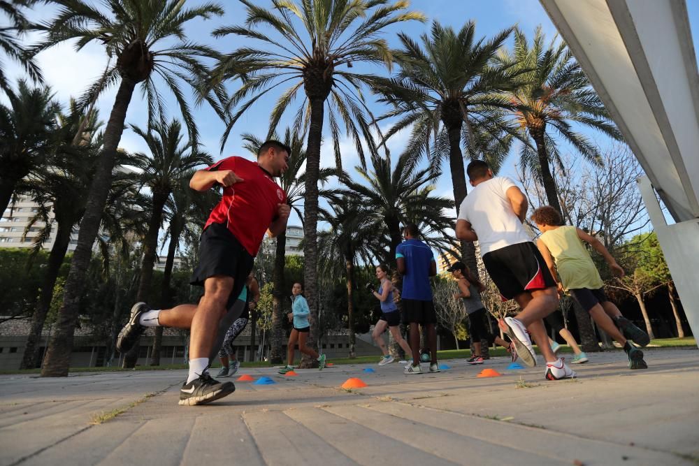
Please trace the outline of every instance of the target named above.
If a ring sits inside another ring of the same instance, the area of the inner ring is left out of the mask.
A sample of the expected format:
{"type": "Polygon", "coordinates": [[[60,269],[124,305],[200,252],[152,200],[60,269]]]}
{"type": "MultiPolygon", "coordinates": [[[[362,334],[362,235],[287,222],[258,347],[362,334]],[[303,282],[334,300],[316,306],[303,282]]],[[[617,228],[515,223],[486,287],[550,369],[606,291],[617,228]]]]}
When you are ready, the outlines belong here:
{"type": "Polygon", "coordinates": [[[488,252],[483,256],[483,263],[503,301],[525,291],[556,286],[544,258],[531,241],[488,252]]]}

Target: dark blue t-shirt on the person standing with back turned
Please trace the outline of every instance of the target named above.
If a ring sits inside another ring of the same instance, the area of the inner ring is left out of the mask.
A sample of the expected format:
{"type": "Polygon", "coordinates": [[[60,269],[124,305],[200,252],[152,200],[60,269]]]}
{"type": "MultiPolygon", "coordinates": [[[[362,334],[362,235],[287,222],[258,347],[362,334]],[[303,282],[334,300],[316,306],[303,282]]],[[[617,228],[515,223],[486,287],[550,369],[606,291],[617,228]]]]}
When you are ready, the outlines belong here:
{"type": "Polygon", "coordinates": [[[420,240],[405,240],[396,248],[396,259],[401,257],[405,259],[401,297],[403,299],[431,301],[430,268],[431,263],[435,260],[432,249],[420,240]]]}

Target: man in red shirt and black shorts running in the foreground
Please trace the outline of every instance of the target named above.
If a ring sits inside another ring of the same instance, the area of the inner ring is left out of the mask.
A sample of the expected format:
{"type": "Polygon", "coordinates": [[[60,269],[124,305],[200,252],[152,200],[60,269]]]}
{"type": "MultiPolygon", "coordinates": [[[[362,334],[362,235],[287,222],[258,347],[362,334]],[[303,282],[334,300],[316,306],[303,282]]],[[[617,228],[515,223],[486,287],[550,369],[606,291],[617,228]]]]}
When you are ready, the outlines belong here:
{"type": "Polygon", "coordinates": [[[207,191],[223,187],[199,243],[199,264],[191,283],[204,287],[199,305],[151,310],[145,303],[131,308],[131,318],[117,338],[117,349],[128,351],[146,327],[191,328],[189,375],[180,389],[180,405],[201,405],[235,391],[233,382],[220,383],[207,372],[223,337],[240,310],[231,310],[252,270],[254,256],[267,232],[276,236],[287,228],[287,194],[273,180],[288,168],[291,149],[268,140],[257,153],[257,163],[229,157],[194,173],[189,187],[207,191]]]}

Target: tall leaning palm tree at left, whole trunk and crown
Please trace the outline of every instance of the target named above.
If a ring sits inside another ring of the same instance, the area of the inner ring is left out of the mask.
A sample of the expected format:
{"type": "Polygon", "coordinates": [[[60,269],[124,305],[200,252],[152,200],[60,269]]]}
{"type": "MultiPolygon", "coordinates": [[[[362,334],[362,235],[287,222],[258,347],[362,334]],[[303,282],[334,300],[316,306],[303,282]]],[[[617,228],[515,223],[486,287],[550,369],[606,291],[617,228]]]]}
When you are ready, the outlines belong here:
{"type": "MultiPolygon", "coordinates": [[[[119,82],[119,89],[105,132],[104,145],[97,163],[94,180],[87,194],[85,215],[80,222],[78,246],[71,261],[66,280],[64,301],[57,330],[49,344],[44,377],[64,377],[68,374],[73,330],[78,316],[85,271],[92,254],[92,244],[99,229],[103,207],[112,179],[117,145],[124,131],[124,121],[136,85],[141,83],[147,96],[151,119],[164,124],[164,104],[159,89],[169,89],[182,112],[189,131],[189,140],[197,143],[197,132],[182,85],[199,89],[208,78],[201,60],[216,57],[206,45],[188,41],[183,26],[197,18],[208,19],[222,15],[221,7],[206,3],[196,8],[185,8],[183,0],[105,0],[97,8],[82,0],[55,0],[61,7],[57,17],[46,24],[46,38],[36,52],[53,45],[77,39],[78,50],[92,41],[105,46],[114,63],[106,68],[101,78],[87,89],[80,104],[87,106],[108,87],[119,82]],[[173,41],[173,39],[175,41],[173,41]],[[161,48],[158,48],[162,46],[161,48]],[[159,85],[160,77],[164,86],[159,85]]],[[[215,90],[201,96],[215,105],[215,90]]]]}

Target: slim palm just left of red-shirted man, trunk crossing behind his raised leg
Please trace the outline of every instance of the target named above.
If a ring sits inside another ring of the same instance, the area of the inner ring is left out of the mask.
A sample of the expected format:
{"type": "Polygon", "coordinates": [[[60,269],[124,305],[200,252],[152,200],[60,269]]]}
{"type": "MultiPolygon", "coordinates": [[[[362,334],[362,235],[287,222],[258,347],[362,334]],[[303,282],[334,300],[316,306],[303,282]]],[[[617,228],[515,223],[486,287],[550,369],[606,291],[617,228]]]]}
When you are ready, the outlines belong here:
{"type": "MultiPolygon", "coordinates": [[[[170,198],[165,204],[164,221],[168,228],[163,236],[163,244],[170,241],[168,254],[165,260],[165,270],[163,272],[163,284],[161,288],[160,305],[166,309],[171,305],[172,289],[170,282],[172,279],[175,254],[180,248],[180,240],[188,238],[192,244],[196,243],[196,233],[199,232],[201,219],[206,218],[208,212],[212,210],[218,201],[214,191],[197,193],[189,187],[189,179],[194,175],[194,170],[183,173],[180,182],[175,184],[170,198]]],[[[160,365],[160,348],[163,338],[163,327],[155,328],[153,351],[151,351],[150,365],[160,365]]]]}

